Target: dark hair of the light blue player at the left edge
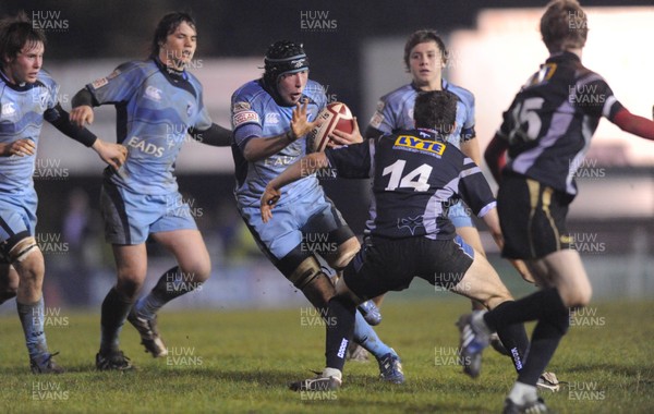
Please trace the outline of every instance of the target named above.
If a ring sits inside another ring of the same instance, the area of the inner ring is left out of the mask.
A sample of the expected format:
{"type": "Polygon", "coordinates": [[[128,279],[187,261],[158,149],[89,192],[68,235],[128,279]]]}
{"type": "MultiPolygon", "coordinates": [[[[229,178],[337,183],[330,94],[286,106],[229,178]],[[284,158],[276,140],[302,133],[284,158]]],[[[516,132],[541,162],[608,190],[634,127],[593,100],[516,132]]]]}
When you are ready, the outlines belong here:
{"type": "Polygon", "coordinates": [[[0,59],[2,65],[5,60],[13,60],[25,46],[46,45],[46,35],[41,29],[35,27],[24,12],[14,17],[5,17],[0,21],[0,59]]]}

